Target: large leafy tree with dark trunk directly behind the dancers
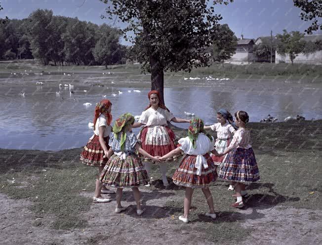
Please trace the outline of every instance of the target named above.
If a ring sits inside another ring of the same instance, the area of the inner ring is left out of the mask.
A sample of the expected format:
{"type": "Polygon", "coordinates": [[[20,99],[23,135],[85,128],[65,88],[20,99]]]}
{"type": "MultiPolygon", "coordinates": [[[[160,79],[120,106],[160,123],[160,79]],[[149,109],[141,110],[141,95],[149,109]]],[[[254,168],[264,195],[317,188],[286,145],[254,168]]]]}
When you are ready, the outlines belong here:
{"type": "MultiPolygon", "coordinates": [[[[208,0],[101,0],[108,3],[107,17],[117,16],[128,26],[124,38],[134,43],[133,53],[143,72],[151,72],[152,89],[161,92],[163,72],[186,71],[207,66],[206,49],[217,38],[220,14],[207,6],[208,0]],[[127,37],[127,32],[134,36],[127,37]]],[[[216,3],[232,0],[215,0],[216,3]]]]}

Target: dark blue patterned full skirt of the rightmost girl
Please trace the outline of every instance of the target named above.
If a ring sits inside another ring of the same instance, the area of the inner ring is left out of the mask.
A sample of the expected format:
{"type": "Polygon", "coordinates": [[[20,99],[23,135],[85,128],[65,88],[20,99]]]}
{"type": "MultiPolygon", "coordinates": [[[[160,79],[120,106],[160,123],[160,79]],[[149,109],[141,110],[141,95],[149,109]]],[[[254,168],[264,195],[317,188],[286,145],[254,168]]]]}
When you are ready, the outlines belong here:
{"type": "Polygon", "coordinates": [[[253,149],[236,148],[229,152],[220,167],[218,177],[236,182],[259,180],[259,170],[253,149]]]}

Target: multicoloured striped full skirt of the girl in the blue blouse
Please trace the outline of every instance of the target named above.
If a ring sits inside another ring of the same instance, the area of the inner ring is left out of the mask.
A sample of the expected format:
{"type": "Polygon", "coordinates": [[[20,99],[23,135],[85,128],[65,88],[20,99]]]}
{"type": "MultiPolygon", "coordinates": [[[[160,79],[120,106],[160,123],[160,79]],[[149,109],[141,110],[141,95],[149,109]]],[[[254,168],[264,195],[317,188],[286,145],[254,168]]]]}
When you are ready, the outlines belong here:
{"type": "Polygon", "coordinates": [[[136,154],[127,155],[124,160],[112,155],[99,180],[115,187],[137,187],[149,183],[148,173],[136,154]]]}

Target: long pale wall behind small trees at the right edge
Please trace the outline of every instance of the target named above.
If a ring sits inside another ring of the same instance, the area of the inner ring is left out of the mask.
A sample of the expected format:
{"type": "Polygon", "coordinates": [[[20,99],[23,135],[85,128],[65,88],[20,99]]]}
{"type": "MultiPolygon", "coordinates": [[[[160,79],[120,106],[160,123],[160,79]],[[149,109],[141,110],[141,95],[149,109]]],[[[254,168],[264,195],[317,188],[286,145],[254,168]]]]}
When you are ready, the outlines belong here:
{"type": "MultiPolygon", "coordinates": [[[[289,55],[281,55],[275,52],[275,63],[292,63],[289,55]]],[[[306,55],[304,53],[299,53],[293,60],[294,63],[304,63],[304,64],[322,64],[322,50],[316,51],[312,54],[306,55]]]]}

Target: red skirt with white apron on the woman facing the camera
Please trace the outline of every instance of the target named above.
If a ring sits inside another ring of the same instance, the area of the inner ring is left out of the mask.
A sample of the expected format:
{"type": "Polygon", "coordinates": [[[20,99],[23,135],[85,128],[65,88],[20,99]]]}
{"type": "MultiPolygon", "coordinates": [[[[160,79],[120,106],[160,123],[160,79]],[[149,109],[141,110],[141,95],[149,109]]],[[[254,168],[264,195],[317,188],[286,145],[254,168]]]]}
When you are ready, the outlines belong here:
{"type": "MultiPolygon", "coordinates": [[[[178,144],[174,132],[168,126],[155,125],[143,127],[137,138],[141,141],[141,148],[154,157],[164,156],[176,149],[178,144]]],[[[180,153],[172,158],[164,160],[164,162],[174,161],[182,155],[183,154],[180,153]]],[[[144,162],[151,161],[140,154],[139,157],[144,162]]]]}

